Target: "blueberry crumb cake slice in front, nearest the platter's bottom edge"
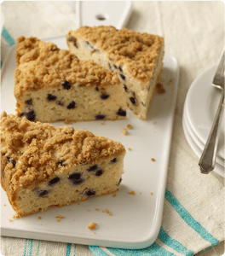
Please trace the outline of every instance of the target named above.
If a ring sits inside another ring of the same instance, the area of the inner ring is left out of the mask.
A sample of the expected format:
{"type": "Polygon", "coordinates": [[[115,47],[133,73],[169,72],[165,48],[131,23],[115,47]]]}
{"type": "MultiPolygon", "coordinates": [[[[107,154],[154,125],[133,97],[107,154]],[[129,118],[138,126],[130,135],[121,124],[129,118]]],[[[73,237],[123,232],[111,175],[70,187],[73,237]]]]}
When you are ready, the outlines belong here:
{"type": "Polygon", "coordinates": [[[2,113],[1,178],[18,216],[118,190],[121,143],[90,131],[2,113]]]}

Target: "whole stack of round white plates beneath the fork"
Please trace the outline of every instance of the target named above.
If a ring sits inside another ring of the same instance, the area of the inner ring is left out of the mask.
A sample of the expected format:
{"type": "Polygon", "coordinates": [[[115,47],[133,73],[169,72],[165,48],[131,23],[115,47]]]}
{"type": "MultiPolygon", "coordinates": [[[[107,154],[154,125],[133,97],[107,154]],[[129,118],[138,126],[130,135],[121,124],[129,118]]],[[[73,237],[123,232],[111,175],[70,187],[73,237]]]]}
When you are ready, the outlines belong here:
{"type": "MultiPolygon", "coordinates": [[[[211,85],[216,68],[217,65],[208,68],[193,81],[187,92],[184,104],[182,117],[183,131],[187,138],[187,143],[199,158],[211,131],[222,94],[222,90],[211,85]]],[[[214,169],[222,177],[225,177],[224,120],[223,113],[214,169]]]]}

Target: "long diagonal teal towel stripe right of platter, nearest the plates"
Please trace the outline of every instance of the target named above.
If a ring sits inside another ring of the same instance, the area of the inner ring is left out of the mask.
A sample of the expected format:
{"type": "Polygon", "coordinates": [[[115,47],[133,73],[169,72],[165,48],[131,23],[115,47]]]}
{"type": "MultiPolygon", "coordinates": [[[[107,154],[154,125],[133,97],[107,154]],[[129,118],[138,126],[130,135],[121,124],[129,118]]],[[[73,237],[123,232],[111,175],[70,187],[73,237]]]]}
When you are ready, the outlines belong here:
{"type": "Polygon", "coordinates": [[[216,237],[212,236],[205,228],[195,220],[187,210],[182,207],[182,204],[176,199],[174,195],[170,193],[168,189],[165,189],[165,199],[170,202],[170,205],[176,210],[176,212],[182,217],[182,219],[193,229],[199,236],[205,241],[211,242],[211,245],[216,245],[219,241],[216,237]]]}

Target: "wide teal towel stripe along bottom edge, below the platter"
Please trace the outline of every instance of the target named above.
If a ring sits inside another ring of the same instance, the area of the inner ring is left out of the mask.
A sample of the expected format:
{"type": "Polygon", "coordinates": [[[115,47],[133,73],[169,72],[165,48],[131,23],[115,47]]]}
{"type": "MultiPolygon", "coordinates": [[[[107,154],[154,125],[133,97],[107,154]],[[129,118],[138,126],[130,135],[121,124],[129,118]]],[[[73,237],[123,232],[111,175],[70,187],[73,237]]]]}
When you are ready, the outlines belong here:
{"type": "Polygon", "coordinates": [[[125,249],[118,249],[118,248],[108,248],[111,253],[114,253],[116,256],[176,256],[174,253],[170,253],[163,247],[160,247],[155,241],[150,247],[143,248],[143,249],[136,249],[136,250],[125,250],[125,249]]]}

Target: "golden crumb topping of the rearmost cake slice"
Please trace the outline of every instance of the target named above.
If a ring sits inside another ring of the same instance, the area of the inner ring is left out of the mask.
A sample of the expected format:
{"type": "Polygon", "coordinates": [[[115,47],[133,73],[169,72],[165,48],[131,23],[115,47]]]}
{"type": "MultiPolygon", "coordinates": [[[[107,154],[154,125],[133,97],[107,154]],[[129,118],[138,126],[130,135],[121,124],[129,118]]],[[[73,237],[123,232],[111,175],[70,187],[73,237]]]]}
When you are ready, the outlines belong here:
{"type": "Polygon", "coordinates": [[[130,74],[144,82],[153,76],[159,50],[164,47],[164,38],[146,32],[134,32],[113,26],[80,26],[67,33],[67,39],[89,40],[95,48],[101,49],[118,65],[125,65],[130,74]]]}

